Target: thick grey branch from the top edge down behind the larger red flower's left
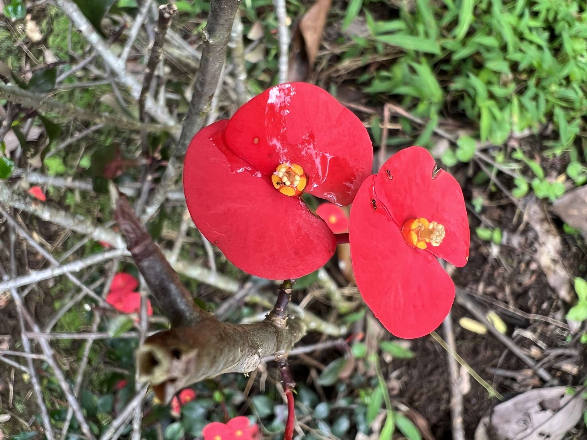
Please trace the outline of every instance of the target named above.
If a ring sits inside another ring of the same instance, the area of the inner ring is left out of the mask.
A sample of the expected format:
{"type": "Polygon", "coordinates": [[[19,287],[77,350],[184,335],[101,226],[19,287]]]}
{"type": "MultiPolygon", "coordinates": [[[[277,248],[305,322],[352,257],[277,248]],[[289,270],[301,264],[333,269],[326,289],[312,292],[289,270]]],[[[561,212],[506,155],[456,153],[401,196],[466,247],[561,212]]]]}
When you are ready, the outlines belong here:
{"type": "Polygon", "coordinates": [[[204,50],[194,83],[190,108],[182,123],[180,139],[173,149],[161,183],[141,216],[143,224],[155,214],[166,199],[167,192],[176,184],[181,175],[187,146],[195,134],[204,127],[206,113],[210,110],[210,103],[224,65],[228,38],[239,2],[240,0],[211,0],[210,2],[208,22],[203,30],[204,50]]]}

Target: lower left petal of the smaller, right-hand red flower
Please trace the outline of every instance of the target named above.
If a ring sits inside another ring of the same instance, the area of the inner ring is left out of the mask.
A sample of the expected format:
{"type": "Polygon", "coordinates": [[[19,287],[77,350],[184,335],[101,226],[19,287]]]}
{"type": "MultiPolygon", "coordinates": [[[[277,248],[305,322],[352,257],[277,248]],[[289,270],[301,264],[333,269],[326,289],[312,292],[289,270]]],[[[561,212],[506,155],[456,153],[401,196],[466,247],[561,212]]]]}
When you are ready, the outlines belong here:
{"type": "Polygon", "coordinates": [[[375,195],[375,182],[375,175],[363,182],[350,210],[350,255],[357,286],[390,333],[405,339],[421,337],[436,329],[450,311],[453,280],[431,253],[406,245],[399,226],[375,195]]]}

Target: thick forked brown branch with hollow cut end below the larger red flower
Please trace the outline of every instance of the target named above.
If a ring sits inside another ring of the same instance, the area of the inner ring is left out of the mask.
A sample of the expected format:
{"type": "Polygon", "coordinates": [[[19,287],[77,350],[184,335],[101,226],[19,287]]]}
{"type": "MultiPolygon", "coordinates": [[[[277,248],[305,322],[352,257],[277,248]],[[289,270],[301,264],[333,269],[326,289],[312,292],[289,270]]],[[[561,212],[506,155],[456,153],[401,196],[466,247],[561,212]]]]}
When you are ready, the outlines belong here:
{"type": "Polygon", "coordinates": [[[139,379],[149,381],[161,400],[168,402],[205,378],[254,371],[262,358],[287,353],[305,334],[303,320],[285,312],[291,284],[282,286],[274,310],[261,323],[222,322],[194,306],[126,198],[117,201],[115,216],[137,268],[172,324],[137,352],[139,379]]]}

